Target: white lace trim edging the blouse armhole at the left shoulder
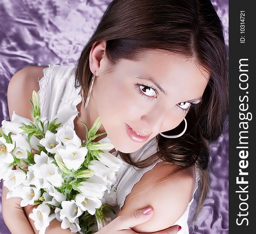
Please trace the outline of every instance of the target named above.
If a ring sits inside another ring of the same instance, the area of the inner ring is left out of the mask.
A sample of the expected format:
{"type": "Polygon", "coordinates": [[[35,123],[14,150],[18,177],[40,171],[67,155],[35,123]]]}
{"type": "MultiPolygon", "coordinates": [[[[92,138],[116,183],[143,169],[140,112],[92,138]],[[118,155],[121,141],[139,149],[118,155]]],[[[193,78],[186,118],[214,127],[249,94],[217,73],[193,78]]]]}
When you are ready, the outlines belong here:
{"type": "Polygon", "coordinates": [[[52,70],[54,67],[59,66],[59,65],[51,65],[51,64],[47,64],[47,65],[48,67],[45,67],[43,69],[43,77],[40,80],[38,78],[38,83],[39,83],[38,95],[39,95],[41,113],[43,113],[43,108],[45,105],[45,93],[47,90],[47,83],[49,82],[50,74],[52,73],[52,70]]]}

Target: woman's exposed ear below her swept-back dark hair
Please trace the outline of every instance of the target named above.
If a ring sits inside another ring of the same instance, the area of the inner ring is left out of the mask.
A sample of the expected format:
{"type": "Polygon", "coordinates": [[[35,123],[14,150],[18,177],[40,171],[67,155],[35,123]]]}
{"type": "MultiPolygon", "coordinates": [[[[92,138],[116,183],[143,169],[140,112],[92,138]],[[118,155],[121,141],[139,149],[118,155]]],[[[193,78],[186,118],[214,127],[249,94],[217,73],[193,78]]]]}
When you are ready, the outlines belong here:
{"type": "Polygon", "coordinates": [[[94,74],[96,72],[96,76],[100,73],[99,70],[103,70],[103,67],[105,66],[105,48],[106,41],[95,42],[91,47],[89,56],[90,69],[91,73],[94,74]]]}

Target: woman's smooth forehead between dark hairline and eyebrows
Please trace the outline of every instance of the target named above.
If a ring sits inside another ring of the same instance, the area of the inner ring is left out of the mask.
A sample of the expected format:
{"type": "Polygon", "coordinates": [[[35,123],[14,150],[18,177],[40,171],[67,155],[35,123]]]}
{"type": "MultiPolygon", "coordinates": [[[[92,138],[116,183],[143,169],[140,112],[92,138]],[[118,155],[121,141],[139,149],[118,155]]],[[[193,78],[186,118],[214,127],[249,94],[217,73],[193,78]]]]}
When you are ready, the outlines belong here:
{"type": "Polygon", "coordinates": [[[127,73],[133,77],[153,78],[172,98],[190,100],[200,97],[209,80],[209,73],[193,58],[189,59],[166,51],[144,52],[139,61],[125,60],[125,62],[129,63],[126,66],[127,73]]]}

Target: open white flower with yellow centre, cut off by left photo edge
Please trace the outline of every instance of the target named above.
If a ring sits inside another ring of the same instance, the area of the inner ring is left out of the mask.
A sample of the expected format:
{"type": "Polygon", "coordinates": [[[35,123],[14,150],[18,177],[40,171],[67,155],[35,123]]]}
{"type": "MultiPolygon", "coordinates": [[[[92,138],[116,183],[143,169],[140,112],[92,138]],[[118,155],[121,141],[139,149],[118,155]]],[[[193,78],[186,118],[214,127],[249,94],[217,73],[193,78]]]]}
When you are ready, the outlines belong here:
{"type": "Polygon", "coordinates": [[[4,137],[0,137],[0,167],[5,163],[12,163],[14,161],[13,155],[10,153],[14,149],[14,143],[6,143],[4,137]]]}

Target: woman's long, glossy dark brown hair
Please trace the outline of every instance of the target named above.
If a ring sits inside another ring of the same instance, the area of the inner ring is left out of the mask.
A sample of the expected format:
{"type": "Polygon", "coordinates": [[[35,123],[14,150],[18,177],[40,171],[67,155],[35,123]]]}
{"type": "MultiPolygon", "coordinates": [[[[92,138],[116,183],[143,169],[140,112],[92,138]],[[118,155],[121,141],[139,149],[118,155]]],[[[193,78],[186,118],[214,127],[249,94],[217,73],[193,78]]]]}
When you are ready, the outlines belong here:
{"type": "MultiPolygon", "coordinates": [[[[120,153],[134,167],[148,167],[158,158],[177,165],[177,170],[197,165],[200,169],[196,219],[209,191],[209,142],[220,137],[228,114],[227,48],[223,26],[210,0],[113,0],[97,28],[84,46],[75,67],[75,87],[82,87],[84,100],[92,78],[89,55],[95,42],[106,41],[109,71],[120,59],[140,60],[141,51],[162,50],[194,58],[208,71],[210,79],[202,102],[186,115],[188,128],[179,138],[157,135],[158,152],[134,162],[130,154],[120,153]]],[[[182,125],[182,124],[181,124],[182,125]]],[[[170,130],[175,135],[183,126],[170,130]]]]}

